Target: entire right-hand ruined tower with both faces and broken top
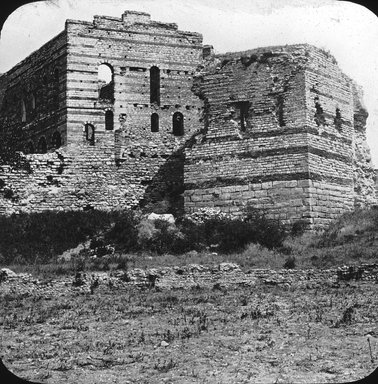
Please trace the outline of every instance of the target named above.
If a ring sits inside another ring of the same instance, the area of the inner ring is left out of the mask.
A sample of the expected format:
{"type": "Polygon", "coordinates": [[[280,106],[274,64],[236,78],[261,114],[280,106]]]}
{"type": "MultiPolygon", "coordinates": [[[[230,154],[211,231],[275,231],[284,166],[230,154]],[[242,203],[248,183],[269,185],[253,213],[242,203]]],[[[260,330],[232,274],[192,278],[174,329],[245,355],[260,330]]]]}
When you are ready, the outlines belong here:
{"type": "MultiPolygon", "coordinates": [[[[198,74],[205,134],[186,151],[185,207],[246,204],[325,227],[375,199],[355,92],[328,52],[307,45],[217,55],[198,74]],[[363,159],[357,160],[358,159],[363,159]]],[[[363,113],[362,113],[363,115],[363,113]]]]}

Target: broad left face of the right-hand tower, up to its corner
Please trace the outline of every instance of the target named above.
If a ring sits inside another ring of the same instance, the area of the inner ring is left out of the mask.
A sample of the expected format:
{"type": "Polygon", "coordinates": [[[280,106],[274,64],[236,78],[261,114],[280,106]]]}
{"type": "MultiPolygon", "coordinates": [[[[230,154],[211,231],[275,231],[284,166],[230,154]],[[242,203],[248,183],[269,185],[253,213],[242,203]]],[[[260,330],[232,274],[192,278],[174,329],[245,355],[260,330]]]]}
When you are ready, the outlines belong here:
{"type": "Polygon", "coordinates": [[[308,219],[305,49],[271,47],[215,56],[194,91],[204,135],[186,150],[185,208],[240,215],[247,204],[272,218],[308,219]]]}

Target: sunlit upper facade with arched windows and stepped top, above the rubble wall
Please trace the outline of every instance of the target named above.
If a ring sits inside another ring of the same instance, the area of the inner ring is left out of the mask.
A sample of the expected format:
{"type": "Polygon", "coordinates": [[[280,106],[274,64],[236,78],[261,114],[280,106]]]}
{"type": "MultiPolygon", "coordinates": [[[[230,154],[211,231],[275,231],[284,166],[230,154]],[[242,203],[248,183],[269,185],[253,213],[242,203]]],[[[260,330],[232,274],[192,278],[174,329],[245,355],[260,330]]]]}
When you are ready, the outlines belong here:
{"type": "MultiPolygon", "coordinates": [[[[114,129],[126,126],[132,139],[171,147],[175,112],[184,117],[185,137],[199,127],[202,104],[191,92],[192,76],[202,57],[202,36],[177,25],[125,12],[122,18],[96,16],[93,23],[68,20],[67,106],[69,141],[81,141],[83,126],[105,130],[105,110],[114,113],[114,129]],[[114,101],[99,100],[98,68],[113,70],[114,101]],[[150,68],[160,70],[160,100],[150,100],[150,68]],[[159,132],[151,132],[151,115],[159,116],[159,132]],[[126,120],[126,121],[125,121],[126,120]]],[[[183,138],[181,141],[184,140],[183,138]]],[[[129,146],[129,142],[123,147],[129,146]]],[[[123,153],[120,154],[121,156],[123,153]]]]}

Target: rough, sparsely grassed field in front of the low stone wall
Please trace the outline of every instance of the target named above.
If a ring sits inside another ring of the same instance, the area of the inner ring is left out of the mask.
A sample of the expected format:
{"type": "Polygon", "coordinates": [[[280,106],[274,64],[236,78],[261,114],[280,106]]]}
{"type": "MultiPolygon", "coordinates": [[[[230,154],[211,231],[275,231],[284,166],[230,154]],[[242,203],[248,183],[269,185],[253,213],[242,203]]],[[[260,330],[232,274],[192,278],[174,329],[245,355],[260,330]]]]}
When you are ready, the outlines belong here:
{"type": "Polygon", "coordinates": [[[374,282],[176,290],[109,283],[91,293],[63,279],[29,291],[0,284],[0,353],[19,377],[340,383],[377,367],[374,282]]]}

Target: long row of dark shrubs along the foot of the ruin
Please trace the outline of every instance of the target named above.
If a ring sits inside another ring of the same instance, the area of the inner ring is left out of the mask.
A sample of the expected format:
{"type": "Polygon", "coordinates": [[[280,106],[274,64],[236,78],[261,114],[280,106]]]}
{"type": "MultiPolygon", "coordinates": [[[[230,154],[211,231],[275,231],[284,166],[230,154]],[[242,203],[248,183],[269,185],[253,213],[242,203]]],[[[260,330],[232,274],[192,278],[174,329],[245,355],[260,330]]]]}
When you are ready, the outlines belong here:
{"type": "MultiPolygon", "coordinates": [[[[251,209],[238,219],[214,209],[203,210],[176,224],[142,219],[131,210],[23,213],[0,217],[0,233],[0,255],[5,263],[18,260],[28,264],[56,260],[67,250],[78,250],[84,242],[87,246],[78,256],[102,258],[115,250],[158,255],[190,251],[230,254],[243,251],[250,243],[274,249],[282,246],[286,236],[279,222],[251,209]]],[[[100,260],[96,263],[107,268],[100,260]]]]}

